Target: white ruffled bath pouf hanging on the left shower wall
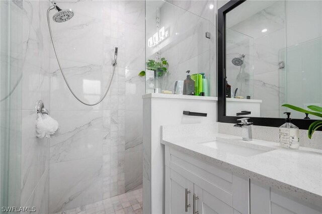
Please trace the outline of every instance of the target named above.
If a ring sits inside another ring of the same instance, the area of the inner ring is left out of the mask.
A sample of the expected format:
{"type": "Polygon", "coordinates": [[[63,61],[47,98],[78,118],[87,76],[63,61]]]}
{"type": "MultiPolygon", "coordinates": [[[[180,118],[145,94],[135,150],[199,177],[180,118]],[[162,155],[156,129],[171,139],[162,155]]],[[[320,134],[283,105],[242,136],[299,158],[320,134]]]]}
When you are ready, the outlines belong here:
{"type": "Polygon", "coordinates": [[[55,121],[47,114],[37,114],[37,123],[36,123],[36,136],[38,138],[50,138],[50,135],[55,134],[58,129],[58,122],[55,121]]]}

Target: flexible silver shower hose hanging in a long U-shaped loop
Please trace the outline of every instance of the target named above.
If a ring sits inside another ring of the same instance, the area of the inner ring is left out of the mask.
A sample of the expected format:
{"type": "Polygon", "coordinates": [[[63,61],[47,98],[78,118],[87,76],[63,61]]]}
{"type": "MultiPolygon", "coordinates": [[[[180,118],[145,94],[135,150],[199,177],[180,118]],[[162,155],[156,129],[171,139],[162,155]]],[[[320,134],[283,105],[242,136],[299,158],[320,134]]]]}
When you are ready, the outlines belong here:
{"type": "Polygon", "coordinates": [[[97,101],[97,102],[95,102],[95,103],[93,103],[93,104],[90,104],[90,103],[86,103],[86,102],[82,101],[80,98],[78,98],[78,97],[77,97],[77,95],[76,95],[76,94],[73,92],[73,90],[71,89],[70,85],[68,84],[68,81],[67,81],[67,79],[66,79],[66,76],[65,76],[65,74],[64,74],[64,72],[63,72],[63,70],[62,70],[62,68],[61,68],[61,65],[60,65],[60,61],[59,61],[58,54],[57,54],[57,51],[56,51],[56,47],[55,47],[55,43],[54,43],[54,39],[53,39],[52,32],[51,32],[50,21],[49,21],[49,11],[50,11],[50,10],[52,10],[52,9],[53,9],[53,8],[49,8],[49,9],[47,10],[47,23],[48,23],[48,28],[49,28],[49,34],[50,34],[50,38],[51,38],[51,43],[52,43],[52,46],[53,46],[53,48],[54,48],[54,52],[55,52],[55,55],[56,55],[56,59],[57,59],[57,63],[58,63],[58,66],[59,66],[59,69],[60,69],[61,75],[62,75],[62,77],[64,78],[64,80],[65,80],[65,82],[66,82],[66,85],[67,85],[68,89],[70,90],[71,94],[72,94],[72,95],[73,95],[73,96],[74,96],[74,97],[75,97],[79,102],[82,102],[83,104],[85,104],[85,105],[90,105],[90,106],[92,106],[92,105],[97,105],[97,104],[99,104],[100,102],[102,102],[102,101],[103,101],[103,99],[106,97],[107,93],[108,93],[108,92],[109,92],[109,90],[110,90],[110,87],[111,87],[111,84],[112,84],[112,81],[113,81],[113,77],[114,77],[114,73],[115,73],[116,61],[114,61],[114,63],[112,63],[112,65],[113,65],[113,73],[112,73],[112,77],[111,77],[110,83],[109,83],[109,85],[108,85],[108,87],[107,87],[107,89],[106,89],[106,91],[105,91],[104,95],[100,98],[100,100],[99,100],[99,101],[97,101]]]}

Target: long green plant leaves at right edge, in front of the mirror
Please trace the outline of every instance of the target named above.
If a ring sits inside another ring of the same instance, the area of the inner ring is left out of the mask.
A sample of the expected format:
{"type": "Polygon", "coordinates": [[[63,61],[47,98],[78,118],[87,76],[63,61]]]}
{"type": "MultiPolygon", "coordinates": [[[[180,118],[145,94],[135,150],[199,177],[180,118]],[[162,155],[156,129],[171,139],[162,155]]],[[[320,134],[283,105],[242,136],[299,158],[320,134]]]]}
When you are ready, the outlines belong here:
{"type": "MultiPolygon", "coordinates": [[[[312,110],[313,112],[307,111],[305,109],[301,109],[295,105],[290,105],[290,104],[283,104],[282,106],[287,107],[292,110],[295,110],[297,112],[302,112],[302,113],[306,113],[306,114],[310,114],[310,115],[314,115],[314,116],[322,118],[322,108],[319,106],[316,106],[316,105],[307,106],[307,108],[312,110]]],[[[322,121],[315,121],[308,127],[308,138],[309,139],[311,139],[314,131],[317,130],[319,127],[322,127],[322,121]]]]}

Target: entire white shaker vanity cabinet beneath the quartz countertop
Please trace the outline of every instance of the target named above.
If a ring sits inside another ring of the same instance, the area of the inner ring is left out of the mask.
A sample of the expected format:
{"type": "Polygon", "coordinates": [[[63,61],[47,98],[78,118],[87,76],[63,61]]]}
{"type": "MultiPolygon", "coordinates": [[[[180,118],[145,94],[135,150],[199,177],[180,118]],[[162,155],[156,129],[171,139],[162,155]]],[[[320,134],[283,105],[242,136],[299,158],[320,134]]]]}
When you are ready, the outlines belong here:
{"type": "Polygon", "coordinates": [[[167,145],[165,165],[165,213],[322,213],[320,206],[308,204],[291,194],[213,166],[189,155],[189,152],[182,153],[167,145]]]}

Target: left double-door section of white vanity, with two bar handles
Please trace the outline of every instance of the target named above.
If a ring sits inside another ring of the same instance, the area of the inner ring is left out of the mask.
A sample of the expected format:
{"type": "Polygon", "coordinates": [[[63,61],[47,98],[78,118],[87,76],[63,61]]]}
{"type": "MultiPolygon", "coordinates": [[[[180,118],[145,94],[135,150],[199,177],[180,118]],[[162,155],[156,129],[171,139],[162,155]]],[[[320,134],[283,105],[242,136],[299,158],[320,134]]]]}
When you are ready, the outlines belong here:
{"type": "Polygon", "coordinates": [[[249,180],[166,146],[165,213],[249,213],[249,180]]]}

